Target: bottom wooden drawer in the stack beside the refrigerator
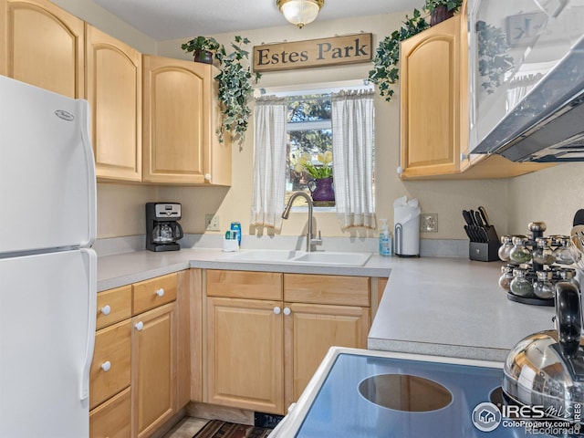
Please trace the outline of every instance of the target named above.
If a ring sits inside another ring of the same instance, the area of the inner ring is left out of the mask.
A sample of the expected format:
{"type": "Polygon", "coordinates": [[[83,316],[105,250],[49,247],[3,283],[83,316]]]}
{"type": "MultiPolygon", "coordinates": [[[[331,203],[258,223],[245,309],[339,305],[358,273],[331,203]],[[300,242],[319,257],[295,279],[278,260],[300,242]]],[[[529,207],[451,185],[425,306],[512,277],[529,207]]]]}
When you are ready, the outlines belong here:
{"type": "Polygon", "coordinates": [[[130,388],[89,412],[89,438],[130,438],[130,388]]]}

